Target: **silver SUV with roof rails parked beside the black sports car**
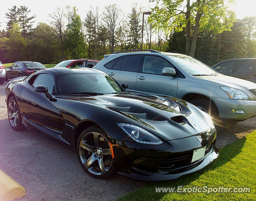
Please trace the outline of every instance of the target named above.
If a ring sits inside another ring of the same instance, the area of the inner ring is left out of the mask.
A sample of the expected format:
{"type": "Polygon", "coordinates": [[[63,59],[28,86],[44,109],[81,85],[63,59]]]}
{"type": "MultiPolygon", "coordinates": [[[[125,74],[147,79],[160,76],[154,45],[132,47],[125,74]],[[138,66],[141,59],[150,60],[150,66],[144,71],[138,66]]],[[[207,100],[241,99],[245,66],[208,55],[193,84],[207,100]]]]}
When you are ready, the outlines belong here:
{"type": "Polygon", "coordinates": [[[256,116],[256,84],[221,75],[184,54],[122,51],[105,55],[95,69],[128,84],[131,93],[181,98],[221,121],[256,116]]]}

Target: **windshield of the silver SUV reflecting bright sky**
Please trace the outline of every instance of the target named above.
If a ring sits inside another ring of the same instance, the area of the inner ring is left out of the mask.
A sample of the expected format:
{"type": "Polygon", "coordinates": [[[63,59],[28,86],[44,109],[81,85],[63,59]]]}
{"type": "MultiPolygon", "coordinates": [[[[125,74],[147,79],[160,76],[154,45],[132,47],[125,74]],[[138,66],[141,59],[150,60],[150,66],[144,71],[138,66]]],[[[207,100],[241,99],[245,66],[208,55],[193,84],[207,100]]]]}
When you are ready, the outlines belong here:
{"type": "Polygon", "coordinates": [[[216,75],[217,72],[212,70],[206,64],[189,57],[186,55],[170,55],[170,57],[176,64],[178,64],[184,71],[189,75],[200,76],[200,75],[216,75]]]}

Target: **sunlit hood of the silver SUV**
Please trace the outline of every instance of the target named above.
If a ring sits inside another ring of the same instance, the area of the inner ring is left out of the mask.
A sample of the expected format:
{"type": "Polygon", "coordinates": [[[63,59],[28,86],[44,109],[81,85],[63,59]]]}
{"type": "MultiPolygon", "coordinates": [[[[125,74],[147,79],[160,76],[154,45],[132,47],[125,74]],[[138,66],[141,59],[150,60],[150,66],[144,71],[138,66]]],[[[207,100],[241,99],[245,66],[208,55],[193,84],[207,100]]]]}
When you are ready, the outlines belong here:
{"type": "Polygon", "coordinates": [[[209,80],[219,84],[220,86],[228,86],[238,89],[256,89],[256,84],[236,77],[226,75],[197,76],[199,79],[209,80]]]}

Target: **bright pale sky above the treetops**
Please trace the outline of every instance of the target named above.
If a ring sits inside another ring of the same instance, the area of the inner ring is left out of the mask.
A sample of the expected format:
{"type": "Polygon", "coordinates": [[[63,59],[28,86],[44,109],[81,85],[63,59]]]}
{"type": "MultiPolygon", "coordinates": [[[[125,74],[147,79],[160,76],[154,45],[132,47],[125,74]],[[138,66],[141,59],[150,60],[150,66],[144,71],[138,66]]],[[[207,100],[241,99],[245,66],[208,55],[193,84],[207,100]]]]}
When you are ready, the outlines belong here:
{"type": "MultiPolygon", "coordinates": [[[[227,0],[225,0],[227,1],[227,0]]],[[[238,19],[242,19],[246,16],[256,16],[255,8],[256,8],[256,0],[236,0],[236,5],[229,5],[230,10],[234,10],[238,19]]],[[[5,18],[5,13],[8,12],[8,8],[11,8],[13,5],[26,5],[29,9],[31,9],[30,14],[36,15],[36,23],[44,22],[49,24],[49,16],[48,14],[53,13],[54,8],[65,7],[66,5],[70,5],[71,7],[76,6],[78,8],[78,14],[82,19],[85,18],[85,13],[90,9],[90,6],[95,8],[98,6],[99,13],[102,13],[104,7],[110,4],[116,4],[121,8],[124,16],[130,12],[132,4],[137,3],[139,6],[145,8],[153,8],[155,3],[149,3],[149,0],[83,0],[83,1],[70,1],[70,0],[3,0],[0,6],[0,29],[5,28],[8,20],[5,18]]],[[[146,9],[147,10],[147,9],[146,9]]],[[[31,16],[29,15],[29,16],[31,16]]],[[[35,23],[35,26],[36,26],[35,23]]]]}

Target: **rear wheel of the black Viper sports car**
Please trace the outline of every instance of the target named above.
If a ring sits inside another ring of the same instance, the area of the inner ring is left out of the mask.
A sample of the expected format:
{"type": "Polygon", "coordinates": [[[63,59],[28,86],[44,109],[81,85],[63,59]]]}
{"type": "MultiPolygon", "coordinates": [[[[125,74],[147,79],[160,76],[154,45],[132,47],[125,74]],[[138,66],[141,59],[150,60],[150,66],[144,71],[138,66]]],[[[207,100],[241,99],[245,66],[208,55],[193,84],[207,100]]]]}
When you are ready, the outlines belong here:
{"type": "Polygon", "coordinates": [[[10,97],[8,100],[7,111],[10,127],[15,131],[23,130],[25,127],[21,122],[20,108],[14,96],[10,97]]]}

